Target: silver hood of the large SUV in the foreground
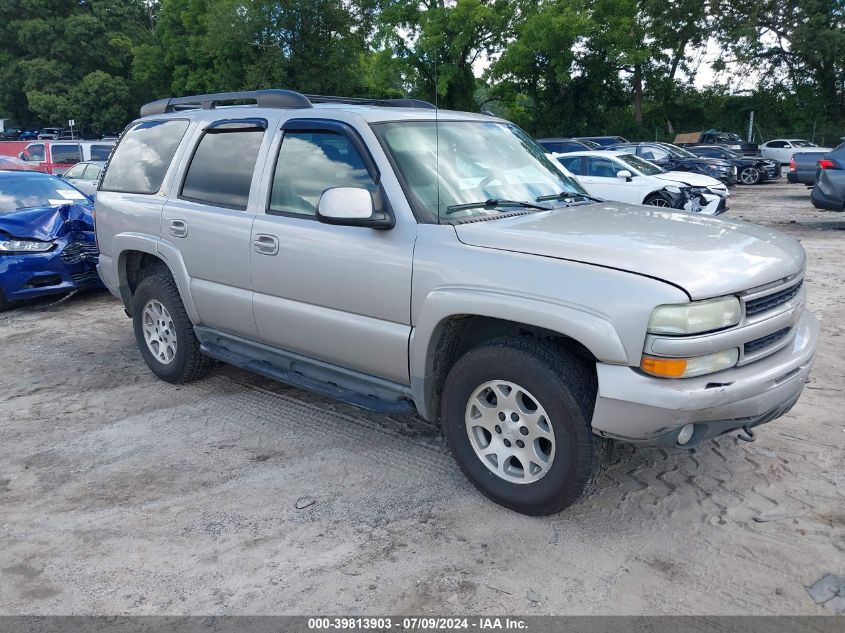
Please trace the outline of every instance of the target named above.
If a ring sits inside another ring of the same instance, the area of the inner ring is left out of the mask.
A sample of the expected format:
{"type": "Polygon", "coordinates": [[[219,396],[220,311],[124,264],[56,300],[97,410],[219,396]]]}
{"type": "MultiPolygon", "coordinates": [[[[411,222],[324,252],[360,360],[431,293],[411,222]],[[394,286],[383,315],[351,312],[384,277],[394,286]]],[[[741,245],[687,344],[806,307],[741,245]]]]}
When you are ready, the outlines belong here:
{"type": "Polygon", "coordinates": [[[804,268],[795,240],[684,211],[597,203],[455,225],[464,244],[605,266],[662,279],[693,299],[739,292],[804,268]]]}

